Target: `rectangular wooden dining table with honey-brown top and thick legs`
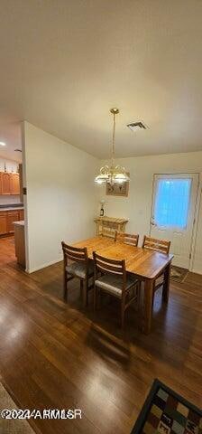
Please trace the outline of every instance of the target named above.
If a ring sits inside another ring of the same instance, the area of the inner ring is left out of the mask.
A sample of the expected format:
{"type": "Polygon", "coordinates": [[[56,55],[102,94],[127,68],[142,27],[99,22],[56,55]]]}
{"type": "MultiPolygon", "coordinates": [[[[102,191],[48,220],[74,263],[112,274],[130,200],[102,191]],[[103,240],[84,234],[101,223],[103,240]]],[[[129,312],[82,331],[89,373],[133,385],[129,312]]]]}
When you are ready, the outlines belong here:
{"type": "Polygon", "coordinates": [[[148,335],[152,327],[152,304],[155,280],[164,274],[162,301],[168,303],[170,292],[170,266],[173,255],[134,247],[124,242],[115,241],[103,236],[78,241],[74,247],[87,248],[89,259],[93,259],[93,251],[109,259],[124,259],[127,272],[139,278],[143,284],[142,333],[148,335]]]}

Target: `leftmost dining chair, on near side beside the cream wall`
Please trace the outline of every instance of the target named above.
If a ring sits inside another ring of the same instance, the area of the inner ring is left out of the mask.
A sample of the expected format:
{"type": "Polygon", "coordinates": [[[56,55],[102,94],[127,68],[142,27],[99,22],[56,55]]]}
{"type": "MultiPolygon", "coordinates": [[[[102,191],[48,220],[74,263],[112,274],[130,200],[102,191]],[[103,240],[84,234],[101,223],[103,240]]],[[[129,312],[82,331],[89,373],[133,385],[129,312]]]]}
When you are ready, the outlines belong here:
{"type": "Polygon", "coordinates": [[[87,292],[93,285],[89,286],[89,278],[94,275],[93,261],[87,256],[87,248],[72,247],[61,242],[63,250],[63,267],[64,267],[64,299],[68,300],[68,282],[72,278],[80,280],[80,291],[83,293],[83,305],[87,306],[87,292]],[[70,263],[69,263],[70,261],[70,263]]]}

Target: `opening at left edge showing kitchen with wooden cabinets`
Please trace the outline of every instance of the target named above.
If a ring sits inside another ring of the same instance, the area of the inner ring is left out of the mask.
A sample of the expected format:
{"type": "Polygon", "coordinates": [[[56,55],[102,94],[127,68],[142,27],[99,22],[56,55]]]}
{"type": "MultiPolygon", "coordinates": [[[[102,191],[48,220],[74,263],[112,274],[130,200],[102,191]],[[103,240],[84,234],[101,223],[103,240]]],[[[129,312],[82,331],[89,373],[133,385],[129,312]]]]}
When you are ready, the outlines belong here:
{"type": "Polygon", "coordinates": [[[21,122],[0,127],[0,267],[25,269],[21,122]]]}

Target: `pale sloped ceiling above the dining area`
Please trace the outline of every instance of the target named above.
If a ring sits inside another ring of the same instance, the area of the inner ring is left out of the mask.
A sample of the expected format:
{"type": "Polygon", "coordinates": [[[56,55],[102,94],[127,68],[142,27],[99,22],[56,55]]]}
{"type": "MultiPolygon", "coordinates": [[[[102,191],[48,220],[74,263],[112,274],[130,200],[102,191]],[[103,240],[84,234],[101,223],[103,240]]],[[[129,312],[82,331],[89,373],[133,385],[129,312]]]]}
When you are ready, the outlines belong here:
{"type": "Polygon", "coordinates": [[[1,0],[0,124],[106,157],[116,106],[116,156],[202,149],[201,41],[201,0],[1,0]]]}

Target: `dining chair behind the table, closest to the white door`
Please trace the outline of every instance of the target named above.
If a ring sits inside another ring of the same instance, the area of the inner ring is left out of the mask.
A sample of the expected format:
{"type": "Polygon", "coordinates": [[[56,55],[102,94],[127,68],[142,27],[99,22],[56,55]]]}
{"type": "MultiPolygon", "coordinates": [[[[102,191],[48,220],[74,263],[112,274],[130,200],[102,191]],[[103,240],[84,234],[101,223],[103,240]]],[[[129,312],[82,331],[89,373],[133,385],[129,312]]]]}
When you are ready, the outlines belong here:
{"type": "MultiPolygon", "coordinates": [[[[158,240],[144,235],[142,241],[142,249],[159,251],[160,253],[169,255],[170,241],[158,240]]],[[[164,278],[164,272],[162,272],[161,275],[155,280],[153,285],[152,305],[153,305],[155,292],[157,291],[157,289],[163,287],[164,284],[165,284],[165,278],[164,278]]]]}

